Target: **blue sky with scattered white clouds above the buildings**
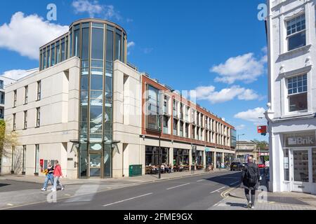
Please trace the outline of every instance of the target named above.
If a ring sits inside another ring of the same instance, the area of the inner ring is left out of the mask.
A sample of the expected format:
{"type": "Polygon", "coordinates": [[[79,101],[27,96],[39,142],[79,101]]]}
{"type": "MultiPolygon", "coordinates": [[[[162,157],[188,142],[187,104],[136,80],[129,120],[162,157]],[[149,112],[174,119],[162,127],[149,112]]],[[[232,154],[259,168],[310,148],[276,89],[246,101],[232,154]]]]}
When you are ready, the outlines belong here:
{"type": "Polygon", "coordinates": [[[48,3],[57,6],[57,21],[46,25],[59,31],[91,16],[117,22],[128,34],[128,60],[140,71],[176,90],[197,90],[197,102],[246,134],[241,139],[267,139],[256,133],[268,100],[265,23],[257,18],[265,0],[1,1],[0,73],[38,66],[29,48],[49,36],[29,33],[45,26],[48,3]],[[34,15],[42,24],[16,28],[11,18],[17,12],[24,14],[16,20],[34,15]],[[18,49],[9,43],[13,38],[20,40],[18,49]]]}

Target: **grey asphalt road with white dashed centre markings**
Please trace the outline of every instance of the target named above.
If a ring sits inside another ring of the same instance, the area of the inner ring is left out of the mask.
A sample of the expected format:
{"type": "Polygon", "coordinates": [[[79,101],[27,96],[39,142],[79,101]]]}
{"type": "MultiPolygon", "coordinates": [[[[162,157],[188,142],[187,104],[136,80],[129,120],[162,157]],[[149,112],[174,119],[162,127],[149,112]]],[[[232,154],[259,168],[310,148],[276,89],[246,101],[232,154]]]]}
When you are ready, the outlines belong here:
{"type": "MultiPolygon", "coordinates": [[[[239,185],[240,175],[240,172],[211,173],[78,196],[68,192],[70,197],[55,203],[23,204],[11,209],[206,210],[223,200],[221,193],[239,185]]],[[[67,188],[58,194],[67,194],[67,188]]]]}

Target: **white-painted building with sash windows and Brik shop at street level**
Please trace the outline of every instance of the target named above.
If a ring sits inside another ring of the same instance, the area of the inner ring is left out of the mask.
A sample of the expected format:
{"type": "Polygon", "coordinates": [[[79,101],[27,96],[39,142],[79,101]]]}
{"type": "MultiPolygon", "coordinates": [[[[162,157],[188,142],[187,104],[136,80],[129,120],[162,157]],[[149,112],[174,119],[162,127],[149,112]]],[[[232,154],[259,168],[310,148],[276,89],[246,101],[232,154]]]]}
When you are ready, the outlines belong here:
{"type": "Polygon", "coordinates": [[[315,1],[268,1],[270,189],[316,194],[315,1]]]}

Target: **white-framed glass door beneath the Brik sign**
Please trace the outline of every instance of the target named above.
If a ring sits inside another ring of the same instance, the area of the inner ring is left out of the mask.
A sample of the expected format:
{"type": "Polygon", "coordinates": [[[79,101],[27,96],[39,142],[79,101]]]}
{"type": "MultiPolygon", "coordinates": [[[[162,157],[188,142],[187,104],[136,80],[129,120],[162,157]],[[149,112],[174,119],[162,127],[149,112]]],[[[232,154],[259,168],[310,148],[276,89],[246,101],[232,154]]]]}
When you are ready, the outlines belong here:
{"type": "Polygon", "coordinates": [[[291,152],[292,190],[310,193],[310,150],[293,150],[291,152]]]}

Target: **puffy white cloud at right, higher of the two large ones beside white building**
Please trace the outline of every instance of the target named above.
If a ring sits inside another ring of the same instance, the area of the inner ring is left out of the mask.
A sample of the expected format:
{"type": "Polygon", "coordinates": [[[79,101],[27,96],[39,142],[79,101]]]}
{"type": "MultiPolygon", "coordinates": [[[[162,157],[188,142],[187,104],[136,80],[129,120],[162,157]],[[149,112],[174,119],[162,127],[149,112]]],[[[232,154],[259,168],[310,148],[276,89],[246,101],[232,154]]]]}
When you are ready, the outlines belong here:
{"type": "Polygon", "coordinates": [[[210,69],[210,72],[218,73],[217,82],[232,84],[237,80],[244,83],[252,83],[261,76],[265,69],[266,57],[256,59],[254,53],[231,57],[224,64],[218,64],[210,69]]]}

